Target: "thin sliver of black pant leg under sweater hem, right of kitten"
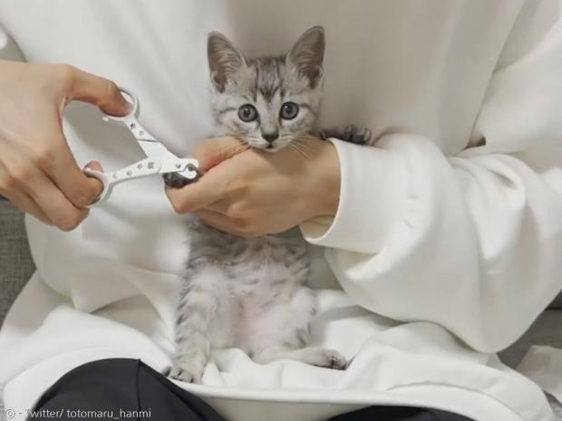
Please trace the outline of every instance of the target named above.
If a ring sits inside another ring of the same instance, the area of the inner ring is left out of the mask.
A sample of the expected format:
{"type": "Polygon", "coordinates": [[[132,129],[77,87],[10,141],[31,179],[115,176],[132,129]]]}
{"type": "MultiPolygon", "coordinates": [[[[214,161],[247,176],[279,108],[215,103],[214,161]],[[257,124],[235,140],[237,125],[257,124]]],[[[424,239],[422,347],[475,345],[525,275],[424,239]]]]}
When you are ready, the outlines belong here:
{"type": "Polygon", "coordinates": [[[329,421],[473,421],[466,416],[420,407],[366,407],[329,421]]]}

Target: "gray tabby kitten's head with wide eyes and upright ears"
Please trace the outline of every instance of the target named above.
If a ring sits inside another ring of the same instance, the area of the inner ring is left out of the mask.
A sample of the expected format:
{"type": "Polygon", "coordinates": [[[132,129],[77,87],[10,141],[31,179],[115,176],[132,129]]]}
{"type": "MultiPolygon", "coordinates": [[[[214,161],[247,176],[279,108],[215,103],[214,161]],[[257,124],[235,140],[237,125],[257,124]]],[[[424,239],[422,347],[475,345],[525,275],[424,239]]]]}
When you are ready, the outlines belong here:
{"type": "Polygon", "coordinates": [[[227,37],[208,36],[211,105],[226,134],[276,151],[315,127],[322,98],[325,38],[315,26],[285,57],[246,59],[227,37]]]}

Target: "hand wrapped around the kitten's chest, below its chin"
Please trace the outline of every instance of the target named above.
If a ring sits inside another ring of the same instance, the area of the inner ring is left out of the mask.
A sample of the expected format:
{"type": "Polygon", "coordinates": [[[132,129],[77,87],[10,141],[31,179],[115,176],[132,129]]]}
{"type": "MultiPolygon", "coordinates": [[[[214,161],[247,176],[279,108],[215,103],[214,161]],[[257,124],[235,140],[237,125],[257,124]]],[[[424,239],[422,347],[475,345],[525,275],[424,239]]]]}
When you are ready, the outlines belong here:
{"type": "Polygon", "coordinates": [[[192,156],[204,176],[166,194],[176,212],[194,212],[221,231],[276,234],[337,210],[340,167],[330,142],[298,140],[271,153],[234,138],[208,139],[192,156]]]}

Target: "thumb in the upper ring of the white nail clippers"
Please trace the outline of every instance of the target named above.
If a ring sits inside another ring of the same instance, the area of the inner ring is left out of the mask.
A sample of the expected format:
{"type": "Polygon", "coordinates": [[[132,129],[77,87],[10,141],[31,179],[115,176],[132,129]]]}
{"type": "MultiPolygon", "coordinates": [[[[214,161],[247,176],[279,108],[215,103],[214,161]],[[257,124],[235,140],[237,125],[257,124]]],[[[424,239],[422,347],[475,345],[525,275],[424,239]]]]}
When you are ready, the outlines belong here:
{"type": "Polygon", "coordinates": [[[97,105],[103,112],[112,116],[124,116],[131,110],[131,104],[123,98],[115,82],[73,70],[73,100],[82,100],[97,105]]]}

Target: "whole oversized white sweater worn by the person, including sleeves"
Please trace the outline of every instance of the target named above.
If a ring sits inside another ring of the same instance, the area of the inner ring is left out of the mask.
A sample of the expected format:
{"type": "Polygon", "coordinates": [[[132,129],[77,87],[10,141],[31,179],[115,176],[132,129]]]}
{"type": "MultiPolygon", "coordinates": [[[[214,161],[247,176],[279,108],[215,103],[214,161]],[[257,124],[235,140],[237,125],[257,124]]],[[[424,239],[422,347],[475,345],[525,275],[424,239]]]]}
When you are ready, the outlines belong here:
{"type": "MultiPolygon", "coordinates": [[[[479,421],[546,421],[540,389],[491,352],[507,347],[562,288],[560,0],[0,0],[0,25],[30,62],[68,62],[135,91],[140,120],[187,155],[211,129],[206,38],[248,55],[283,53],[326,30],[328,126],[373,130],[374,148],[334,140],[334,220],[302,226],[318,261],[317,341],[346,372],[217,352],[188,386],[233,420],[267,401],[275,419],[354,407],[441,407],[479,421]],[[307,405],[292,403],[304,401],[307,405]],[[332,405],[327,405],[331,403],[332,405]]],[[[14,58],[5,39],[3,54],[14,58]]],[[[65,132],[81,164],[141,158],[123,129],[72,104],[65,132]]],[[[188,251],[158,177],[121,185],[64,234],[27,220],[38,271],[0,332],[0,384],[16,415],[92,359],[170,363],[188,251]],[[18,412],[19,411],[19,412],[18,412]]],[[[20,418],[23,419],[23,416],[20,418]]]]}

